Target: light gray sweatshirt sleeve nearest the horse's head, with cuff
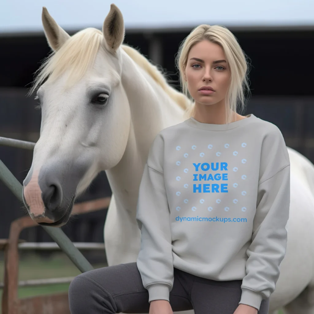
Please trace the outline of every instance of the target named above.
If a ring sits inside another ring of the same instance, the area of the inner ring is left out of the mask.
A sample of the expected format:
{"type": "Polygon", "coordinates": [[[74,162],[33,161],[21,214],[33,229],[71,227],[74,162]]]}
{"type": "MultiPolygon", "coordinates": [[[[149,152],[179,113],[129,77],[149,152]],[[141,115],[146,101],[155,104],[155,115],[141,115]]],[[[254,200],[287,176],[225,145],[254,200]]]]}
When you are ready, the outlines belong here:
{"type": "Polygon", "coordinates": [[[139,187],[136,220],[141,230],[137,267],[149,302],[168,300],[173,286],[170,211],[163,175],[163,139],[154,139],[139,187]]]}

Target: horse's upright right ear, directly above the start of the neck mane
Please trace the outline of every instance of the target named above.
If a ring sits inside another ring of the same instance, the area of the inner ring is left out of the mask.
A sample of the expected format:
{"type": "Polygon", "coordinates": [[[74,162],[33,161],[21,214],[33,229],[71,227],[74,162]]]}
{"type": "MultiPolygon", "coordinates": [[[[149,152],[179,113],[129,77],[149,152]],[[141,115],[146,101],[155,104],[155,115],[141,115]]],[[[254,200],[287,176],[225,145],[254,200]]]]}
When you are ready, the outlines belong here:
{"type": "Polygon", "coordinates": [[[116,51],[124,40],[123,16],[119,8],[113,3],[110,5],[110,11],[104,21],[102,33],[107,47],[112,51],[116,51]]]}

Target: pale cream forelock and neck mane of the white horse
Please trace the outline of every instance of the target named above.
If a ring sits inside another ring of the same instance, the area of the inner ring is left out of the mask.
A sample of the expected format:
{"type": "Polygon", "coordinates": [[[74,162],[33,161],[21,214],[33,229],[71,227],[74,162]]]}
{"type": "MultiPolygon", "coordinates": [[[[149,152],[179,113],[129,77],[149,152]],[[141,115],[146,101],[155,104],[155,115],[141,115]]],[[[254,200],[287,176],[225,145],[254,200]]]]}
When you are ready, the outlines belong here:
{"type": "MultiPolygon", "coordinates": [[[[102,32],[95,28],[86,28],[71,36],[58,50],[53,51],[35,72],[36,75],[33,86],[28,94],[31,95],[44,81],[52,81],[67,70],[69,70],[69,76],[66,85],[73,86],[83,77],[90,64],[93,64],[95,61],[102,40],[102,32]]],[[[182,109],[186,110],[190,107],[190,101],[187,97],[172,88],[167,83],[165,76],[160,70],[150,63],[139,51],[125,44],[122,45],[122,49],[138,66],[143,68],[182,109]]]]}

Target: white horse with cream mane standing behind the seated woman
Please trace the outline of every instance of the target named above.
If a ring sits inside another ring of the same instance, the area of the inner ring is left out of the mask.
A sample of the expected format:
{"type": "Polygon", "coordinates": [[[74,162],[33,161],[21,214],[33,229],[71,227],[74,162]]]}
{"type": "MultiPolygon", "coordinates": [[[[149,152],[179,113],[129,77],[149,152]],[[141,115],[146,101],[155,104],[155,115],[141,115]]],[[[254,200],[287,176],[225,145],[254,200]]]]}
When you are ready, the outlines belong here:
{"type": "MultiPolygon", "coordinates": [[[[86,29],[70,37],[46,8],[42,22],[55,53],[34,85],[49,76],[37,92],[41,135],[24,181],[24,198],[35,200],[34,206],[27,202],[30,215],[41,224],[66,223],[75,195],[105,170],[112,189],[104,230],[108,265],[134,262],[138,188],[150,145],[160,130],[186,119],[191,103],[138,51],[122,45],[123,17],[115,5],[102,32],[86,29]]],[[[288,245],[270,313],[288,305],[286,313],[314,314],[314,166],[288,150],[288,245]]]]}

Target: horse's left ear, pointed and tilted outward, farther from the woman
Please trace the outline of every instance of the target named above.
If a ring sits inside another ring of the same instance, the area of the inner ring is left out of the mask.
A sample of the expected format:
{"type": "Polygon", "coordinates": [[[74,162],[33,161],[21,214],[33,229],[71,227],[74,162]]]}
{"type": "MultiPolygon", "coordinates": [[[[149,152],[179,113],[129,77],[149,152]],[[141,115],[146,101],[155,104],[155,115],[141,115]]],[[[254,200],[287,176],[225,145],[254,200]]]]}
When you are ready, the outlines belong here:
{"type": "Polygon", "coordinates": [[[68,38],[70,38],[70,35],[51,17],[46,7],[42,8],[41,20],[48,45],[52,50],[57,50],[68,38]]]}

